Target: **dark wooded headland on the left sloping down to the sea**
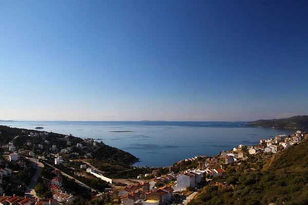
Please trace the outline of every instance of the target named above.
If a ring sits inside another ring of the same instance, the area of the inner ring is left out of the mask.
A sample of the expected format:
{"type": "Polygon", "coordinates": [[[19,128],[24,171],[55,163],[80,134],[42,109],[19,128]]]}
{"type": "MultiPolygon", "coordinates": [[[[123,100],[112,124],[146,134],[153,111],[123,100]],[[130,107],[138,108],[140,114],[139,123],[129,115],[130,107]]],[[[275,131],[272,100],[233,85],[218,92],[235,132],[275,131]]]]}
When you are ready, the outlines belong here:
{"type": "MultiPolygon", "coordinates": [[[[30,132],[38,134],[44,133],[44,131],[0,126],[0,145],[4,146],[8,144],[8,142],[13,141],[13,144],[17,149],[24,148],[26,150],[33,150],[34,148],[34,151],[40,154],[45,152],[47,149],[50,150],[52,145],[55,145],[57,150],[59,151],[61,149],[67,148],[67,140],[65,140],[65,135],[63,134],[50,132],[48,133],[48,136],[31,137],[29,136],[30,132]],[[46,143],[45,140],[47,140],[48,143],[46,143]],[[27,146],[27,142],[31,142],[31,146],[27,146]],[[42,150],[37,149],[38,144],[42,144],[44,148],[42,150]]],[[[81,156],[90,153],[93,156],[92,159],[95,161],[104,161],[112,163],[113,165],[121,165],[125,167],[131,165],[131,163],[138,161],[138,158],[133,156],[132,154],[105,145],[103,142],[98,142],[97,146],[92,146],[91,143],[80,137],[69,136],[68,140],[71,144],[71,152],[79,153],[81,156]],[[83,144],[83,148],[77,148],[77,143],[83,144]]],[[[67,154],[66,158],[71,159],[71,154],[67,154]]]]}

